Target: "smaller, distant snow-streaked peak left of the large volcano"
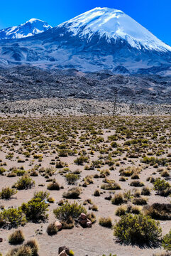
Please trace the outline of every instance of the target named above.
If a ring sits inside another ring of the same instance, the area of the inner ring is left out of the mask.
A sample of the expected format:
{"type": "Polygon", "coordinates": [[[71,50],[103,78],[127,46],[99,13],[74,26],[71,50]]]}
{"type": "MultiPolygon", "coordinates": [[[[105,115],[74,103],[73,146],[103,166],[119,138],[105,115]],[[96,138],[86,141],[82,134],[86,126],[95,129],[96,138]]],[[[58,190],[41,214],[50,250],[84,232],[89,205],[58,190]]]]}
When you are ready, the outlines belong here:
{"type": "Polygon", "coordinates": [[[31,18],[21,25],[1,29],[0,39],[25,38],[43,33],[50,28],[52,28],[52,26],[48,25],[47,22],[41,21],[38,18],[31,18]]]}

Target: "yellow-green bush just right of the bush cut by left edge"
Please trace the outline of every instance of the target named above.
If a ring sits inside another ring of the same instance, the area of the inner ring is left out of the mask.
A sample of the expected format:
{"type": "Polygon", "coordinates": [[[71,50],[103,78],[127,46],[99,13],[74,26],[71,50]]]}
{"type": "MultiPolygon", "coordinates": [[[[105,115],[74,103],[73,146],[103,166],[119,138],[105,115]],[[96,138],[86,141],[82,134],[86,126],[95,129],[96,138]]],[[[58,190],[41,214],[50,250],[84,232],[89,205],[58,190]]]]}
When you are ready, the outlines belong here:
{"type": "Polygon", "coordinates": [[[23,203],[21,210],[26,214],[26,218],[33,222],[48,218],[48,214],[46,214],[48,204],[45,203],[45,201],[41,201],[40,198],[33,198],[31,201],[28,201],[28,203],[23,203]]]}

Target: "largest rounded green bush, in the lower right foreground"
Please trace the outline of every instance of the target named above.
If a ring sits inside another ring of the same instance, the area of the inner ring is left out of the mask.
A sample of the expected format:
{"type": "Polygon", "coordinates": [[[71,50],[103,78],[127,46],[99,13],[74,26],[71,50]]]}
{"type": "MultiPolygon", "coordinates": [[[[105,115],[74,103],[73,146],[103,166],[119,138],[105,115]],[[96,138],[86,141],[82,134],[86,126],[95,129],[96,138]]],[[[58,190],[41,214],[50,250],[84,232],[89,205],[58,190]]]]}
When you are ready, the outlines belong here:
{"type": "Polygon", "coordinates": [[[126,214],[114,226],[114,235],[120,242],[137,245],[158,245],[162,230],[160,223],[150,216],[126,214]]]}

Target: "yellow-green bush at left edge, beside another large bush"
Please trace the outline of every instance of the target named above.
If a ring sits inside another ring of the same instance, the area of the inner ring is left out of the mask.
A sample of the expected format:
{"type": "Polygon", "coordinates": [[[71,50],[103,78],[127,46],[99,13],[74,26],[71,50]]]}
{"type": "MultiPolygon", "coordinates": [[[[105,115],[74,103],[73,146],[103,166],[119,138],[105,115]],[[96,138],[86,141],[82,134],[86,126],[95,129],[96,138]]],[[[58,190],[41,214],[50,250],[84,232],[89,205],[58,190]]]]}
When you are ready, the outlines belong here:
{"type": "Polygon", "coordinates": [[[16,228],[26,223],[26,216],[20,208],[4,209],[0,212],[0,225],[2,227],[16,228]]]}

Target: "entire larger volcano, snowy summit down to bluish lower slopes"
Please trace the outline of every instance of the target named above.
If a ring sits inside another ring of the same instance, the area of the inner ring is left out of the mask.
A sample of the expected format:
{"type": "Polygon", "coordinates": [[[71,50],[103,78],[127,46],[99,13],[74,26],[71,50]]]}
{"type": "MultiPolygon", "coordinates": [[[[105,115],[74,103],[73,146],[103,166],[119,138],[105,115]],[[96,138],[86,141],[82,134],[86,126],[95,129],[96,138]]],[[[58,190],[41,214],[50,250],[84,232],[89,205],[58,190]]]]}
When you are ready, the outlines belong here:
{"type": "MultiPolygon", "coordinates": [[[[171,48],[122,11],[96,8],[38,35],[0,41],[0,57],[14,64],[82,71],[137,70],[171,64],[171,48]]],[[[162,70],[163,72],[163,70],[162,70]]]]}

